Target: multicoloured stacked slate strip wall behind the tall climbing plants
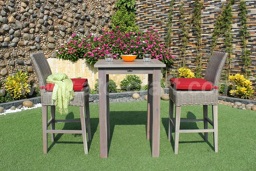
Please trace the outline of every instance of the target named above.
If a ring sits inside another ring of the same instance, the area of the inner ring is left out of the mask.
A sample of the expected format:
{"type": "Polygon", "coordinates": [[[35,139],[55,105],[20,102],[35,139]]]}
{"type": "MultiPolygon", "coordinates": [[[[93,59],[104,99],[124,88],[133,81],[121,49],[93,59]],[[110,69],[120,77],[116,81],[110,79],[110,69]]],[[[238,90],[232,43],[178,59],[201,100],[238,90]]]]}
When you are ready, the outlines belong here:
{"type": "MultiPolygon", "coordinates": [[[[170,7],[171,0],[138,0],[136,1],[136,23],[140,27],[140,30],[146,31],[150,27],[155,27],[160,32],[161,40],[164,42],[164,37],[166,36],[166,21],[168,19],[168,12],[170,7]]],[[[181,30],[179,29],[179,5],[181,1],[175,1],[174,4],[174,19],[173,19],[173,30],[172,30],[172,44],[170,48],[173,50],[173,55],[176,57],[172,69],[177,69],[178,56],[180,54],[181,46],[181,30]]],[[[190,21],[192,17],[193,3],[194,1],[183,0],[185,3],[184,8],[187,21],[190,21]]],[[[218,14],[220,13],[221,3],[226,2],[225,0],[214,0],[214,1],[205,1],[204,0],[204,9],[202,13],[202,30],[203,30],[203,73],[207,65],[207,60],[210,54],[211,40],[213,27],[216,21],[218,14]]],[[[240,58],[242,52],[242,46],[240,41],[239,31],[239,8],[238,4],[240,1],[236,1],[233,5],[233,28],[232,33],[233,37],[233,60],[232,60],[232,74],[242,73],[242,60],[240,58]]],[[[252,76],[250,77],[251,81],[255,85],[255,76],[256,76],[256,1],[245,0],[248,8],[248,30],[251,33],[251,37],[248,40],[248,49],[252,51],[252,65],[250,69],[252,70],[252,76]]],[[[220,38],[221,40],[222,38],[220,38]]],[[[219,43],[217,48],[223,50],[223,43],[219,43]]],[[[196,35],[194,30],[189,32],[189,44],[187,48],[187,57],[185,64],[187,67],[194,69],[195,65],[195,56],[196,56],[196,35]],[[192,34],[193,33],[193,34],[192,34]]],[[[169,75],[171,77],[171,75],[169,75]]]]}

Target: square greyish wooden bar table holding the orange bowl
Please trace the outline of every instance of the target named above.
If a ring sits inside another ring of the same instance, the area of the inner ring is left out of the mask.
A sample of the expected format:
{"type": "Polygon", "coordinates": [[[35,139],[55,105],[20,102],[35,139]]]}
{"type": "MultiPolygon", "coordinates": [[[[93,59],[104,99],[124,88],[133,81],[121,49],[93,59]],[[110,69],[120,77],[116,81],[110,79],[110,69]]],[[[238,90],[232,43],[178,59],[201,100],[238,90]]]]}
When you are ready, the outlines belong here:
{"type": "Polygon", "coordinates": [[[108,157],[110,139],[109,74],[148,74],[147,139],[152,139],[152,157],[159,157],[161,67],[165,67],[165,64],[157,59],[150,62],[143,62],[142,59],[106,62],[100,59],[94,67],[99,68],[100,157],[108,157]]]}

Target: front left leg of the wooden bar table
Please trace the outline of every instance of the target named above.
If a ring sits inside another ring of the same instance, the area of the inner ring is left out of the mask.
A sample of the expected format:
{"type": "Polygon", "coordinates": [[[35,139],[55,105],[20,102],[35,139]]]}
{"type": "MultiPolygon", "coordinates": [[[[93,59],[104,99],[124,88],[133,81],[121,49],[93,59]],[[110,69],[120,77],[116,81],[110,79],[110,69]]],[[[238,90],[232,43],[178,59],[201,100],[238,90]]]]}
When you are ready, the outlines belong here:
{"type": "Polygon", "coordinates": [[[106,70],[99,68],[100,158],[108,157],[106,70]]]}

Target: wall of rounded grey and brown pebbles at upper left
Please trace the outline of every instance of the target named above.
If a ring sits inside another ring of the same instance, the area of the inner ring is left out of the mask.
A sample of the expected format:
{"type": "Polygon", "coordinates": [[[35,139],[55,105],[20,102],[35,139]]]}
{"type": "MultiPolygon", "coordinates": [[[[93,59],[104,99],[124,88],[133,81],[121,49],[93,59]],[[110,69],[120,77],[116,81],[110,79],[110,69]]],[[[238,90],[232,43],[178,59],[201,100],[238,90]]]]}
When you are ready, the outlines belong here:
{"type": "Polygon", "coordinates": [[[20,69],[36,78],[30,53],[56,58],[72,33],[98,36],[108,30],[115,0],[0,0],[0,12],[1,81],[20,69]]]}

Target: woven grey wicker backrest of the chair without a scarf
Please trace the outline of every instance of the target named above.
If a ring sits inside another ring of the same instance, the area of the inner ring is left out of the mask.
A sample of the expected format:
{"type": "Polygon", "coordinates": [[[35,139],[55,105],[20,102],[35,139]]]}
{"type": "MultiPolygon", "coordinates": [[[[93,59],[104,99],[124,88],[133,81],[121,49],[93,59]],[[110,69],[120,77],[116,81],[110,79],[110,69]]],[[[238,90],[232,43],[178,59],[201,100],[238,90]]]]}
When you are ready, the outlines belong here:
{"type": "Polygon", "coordinates": [[[204,79],[211,82],[213,86],[219,87],[222,69],[226,63],[228,53],[214,51],[207,64],[204,79]]]}

